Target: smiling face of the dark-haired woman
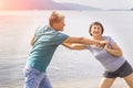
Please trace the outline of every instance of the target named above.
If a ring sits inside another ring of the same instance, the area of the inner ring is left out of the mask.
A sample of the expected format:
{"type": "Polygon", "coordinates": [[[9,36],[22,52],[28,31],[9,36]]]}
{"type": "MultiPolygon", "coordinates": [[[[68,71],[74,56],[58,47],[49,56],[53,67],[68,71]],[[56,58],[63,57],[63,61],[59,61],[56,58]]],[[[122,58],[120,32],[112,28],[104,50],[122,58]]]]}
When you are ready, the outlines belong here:
{"type": "Polygon", "coordinates": [[[92,34],[92,36],[101,36],[102,35],[102,28],[100,25],[92,25],[91,34],[92,34]]]}

